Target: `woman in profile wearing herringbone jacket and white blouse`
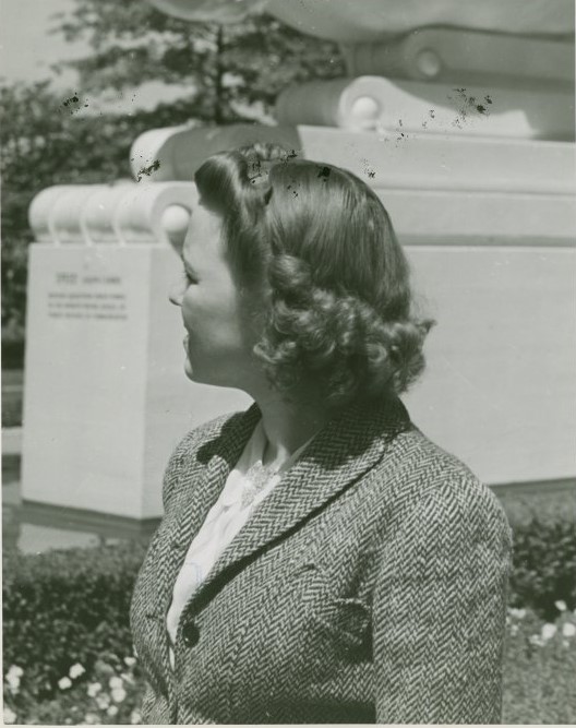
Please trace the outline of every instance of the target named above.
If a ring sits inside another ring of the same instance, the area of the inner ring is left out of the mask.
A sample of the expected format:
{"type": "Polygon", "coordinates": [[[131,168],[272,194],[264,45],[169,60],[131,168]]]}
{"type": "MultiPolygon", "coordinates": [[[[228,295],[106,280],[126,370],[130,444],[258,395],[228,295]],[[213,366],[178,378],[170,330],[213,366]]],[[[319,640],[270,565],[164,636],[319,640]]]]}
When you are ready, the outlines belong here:
{"type": "Polygon", "coordinates": [[[217,154],[171,300],[185,372],[255,404],[188,434],[132,605],[149,723],[494,723],[509,529],[397,395],[430,322],[374,192],[217,154]]]}

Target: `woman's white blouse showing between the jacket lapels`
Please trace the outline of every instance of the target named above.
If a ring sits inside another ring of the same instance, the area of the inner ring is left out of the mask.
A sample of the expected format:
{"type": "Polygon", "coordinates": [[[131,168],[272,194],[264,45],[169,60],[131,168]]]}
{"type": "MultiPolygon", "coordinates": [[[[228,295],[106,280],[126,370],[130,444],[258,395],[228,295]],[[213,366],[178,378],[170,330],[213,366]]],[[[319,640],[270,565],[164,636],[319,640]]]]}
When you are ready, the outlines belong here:
{"type": "Polygon", "coordinates": [[[254,509],[279,482],[311,442],[310,438],[295,451],[280,467],[262,465],[266,435],[262,420],[254,428],[240,458],[230,472],[216,503],[212,506],[196,537],[190,544],[180,573],[176,578],[172,602],[166,618],[170,639],[170,664],[173,669],[172,646],[182,611],[202,582],[208,575],[223,551],[250,518],[254,509]]]}

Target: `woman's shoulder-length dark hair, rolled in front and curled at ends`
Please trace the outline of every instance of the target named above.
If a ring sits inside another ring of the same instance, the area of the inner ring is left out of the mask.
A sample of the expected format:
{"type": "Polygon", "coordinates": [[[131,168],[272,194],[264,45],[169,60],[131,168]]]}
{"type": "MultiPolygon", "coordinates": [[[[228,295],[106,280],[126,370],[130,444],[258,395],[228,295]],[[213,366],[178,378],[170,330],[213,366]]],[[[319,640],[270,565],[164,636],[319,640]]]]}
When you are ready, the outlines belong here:
{"type": "Polygon", "coordinates": [[[408,262],[368,184],[272,144],[216,154],[195,181],[223,218],[238,285],[257,300],[254,355],[274,386],[312,386],[340,406],[420,374],[432,322],[412,312],[408,262]]]}

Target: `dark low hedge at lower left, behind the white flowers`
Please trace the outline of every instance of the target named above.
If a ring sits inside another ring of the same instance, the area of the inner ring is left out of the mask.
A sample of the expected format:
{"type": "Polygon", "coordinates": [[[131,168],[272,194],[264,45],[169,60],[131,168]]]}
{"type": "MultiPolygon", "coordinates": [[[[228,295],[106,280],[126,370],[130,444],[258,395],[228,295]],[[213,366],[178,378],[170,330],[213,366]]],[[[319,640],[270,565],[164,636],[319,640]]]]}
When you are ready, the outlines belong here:
{"type": "Polygon", "coordinates": [[[3,562],[3,665],[24,670],[31,700],[49,701],[72,665],[132,654],[129,607],[144,557],[139,544],[9,552],[3,562]]]}

